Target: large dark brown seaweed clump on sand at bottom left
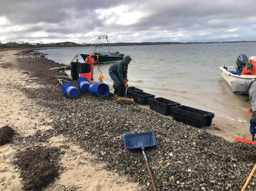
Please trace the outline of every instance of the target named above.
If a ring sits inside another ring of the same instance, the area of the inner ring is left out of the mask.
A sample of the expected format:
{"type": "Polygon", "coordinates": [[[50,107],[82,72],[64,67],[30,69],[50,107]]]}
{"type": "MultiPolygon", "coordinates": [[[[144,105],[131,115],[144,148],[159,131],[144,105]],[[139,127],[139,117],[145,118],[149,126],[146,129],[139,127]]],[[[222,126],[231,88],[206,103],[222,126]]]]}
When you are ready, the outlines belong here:
{"type": "Polygon", "coordinates": [[[14,157],[14,165],[19,167],[24,190],[42,190],[59,175],[56,164],[58,148],[26,148],[14,157]]]}

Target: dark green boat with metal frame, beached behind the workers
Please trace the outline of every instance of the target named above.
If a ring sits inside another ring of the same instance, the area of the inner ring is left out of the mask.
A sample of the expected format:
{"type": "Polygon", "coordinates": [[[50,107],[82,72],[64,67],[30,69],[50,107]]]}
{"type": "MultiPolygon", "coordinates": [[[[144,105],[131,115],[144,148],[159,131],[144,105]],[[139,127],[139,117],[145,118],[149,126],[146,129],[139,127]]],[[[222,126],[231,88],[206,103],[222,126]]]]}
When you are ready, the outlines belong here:
{"type": "Polygon", "coordinates": [[[119,51],[114,51],[113,49],[112,51],[110,51],[110,48],[112,49],[107,36],[98,36],[97,43],[92,44],[92,46],[87,49],[86,53],[80,53],[80,56],[82,56],[85,61],[87,56],[89,56],[90,53],[93,52],[95,54],[95,60],[97,60],[97,56],[99,56],[99,63],[112,63],[114,61],[120,61],[124,58],[123,53],[119,53],[119,51]],[[101,39],[107,40],[107,46],[106,44],[100,43],[101,39]],[[107,49],[107,51],[99,50],[101,48],[105,48],[107,49]]]}

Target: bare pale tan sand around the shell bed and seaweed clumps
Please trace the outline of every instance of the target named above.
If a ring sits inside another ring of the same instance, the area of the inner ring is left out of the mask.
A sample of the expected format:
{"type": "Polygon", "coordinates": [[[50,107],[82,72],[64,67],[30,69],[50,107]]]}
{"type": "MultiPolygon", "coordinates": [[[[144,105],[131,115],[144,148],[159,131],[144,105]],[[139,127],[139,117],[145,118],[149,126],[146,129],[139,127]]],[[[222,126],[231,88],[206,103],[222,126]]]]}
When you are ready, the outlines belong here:
{"type": "MultiPolygon", "coordinates": [[[[19,170],[12,164],[14,155],[18,150],[23,150],[33,145],[33,143],[29,143],[29,139],[26,140],[26,137],[33,137],[39,131],[41,131],[41,134],[49,132],[49,130],[54,128],[53,124],[54,120],[56,120],[56,117],[52,115],[52,113],[49,113],[50,110],[48,108],[44,108],[36,103],[36,101],[38,101],[36,100],[36,96],[40,96],[36,95],[36,91],[34,92],[34,98],[33,96],[27,96],[21,91],[21,89],[26,89],[32,92],[33,89],[36,90],[46,87],[39,83],[41,74],[33,78],[29,75],[27,68],[21,68],[19,65],[20,52],[20,50],[0,52],[0,128],[9,125],[9,127],[13,128],[16,132],[14,139],[24,138],[24,145],[9,143],[0,146],[0,190],[22,190],[19,170]]],[[[27,59],[34,61],[34,64],[38,62],[36,58],[27,59]]],[[[56,63],[52,68],[57,66],[58,64],[56,63]]],[[[53,73],[54,72],[56,71],[53,70],[53,73]]],[[[53,83],[51,86],[56,87],[59,86],[59,84],[56,81],[56,83],[53,83]]],[[[112,88],[111,91],[113,91],[112,88]]],[[[56,103],[58,103],[58,99],[56,99],[56,103]]],[[[59,106],[59,108],[61,107],[59,106]]],[[[142,108],[149,109],[148,106],[143,106],[142,108]]],[[[166,118],[172,120],[172,117],[166,118]]],[[[227,123],[225,120],[215,120],[214,118],[212,125],[203,128],[203,130],[212,135],[220,136],[229,142],[235,142],[236,137],[251,139],[248,128],[245,128],[246,126],[249,128],[249,122],[241,127],[235,122],[227,123]]],[[[188,128],[190,129],[190,127],[188,128]]],[[[201,133],[198,129],[195,131],[201,133]]],[[[94,162],[97,156],[85,151],[81,145],[76,144],[76,142],[74,142],[72,138],[69,139],[68,136],[66,137],[59,134],[51,135],[48,140],[35,143],[35,145],[36,144],[46,147],[58,147],[65,152],[60,158],[64,170],[61,170],[59,177],[56,178],[51,185],[46,187],[45,190],[148,190],[150,187],[148,182],[139,182],[139,178],[135,178],[138,181],[133,182],[130,181],[127,176],[122,175],[122,173],[120,175],[117,170],[107,170],[107,163],[94,162]]],[[[119,160],[121,161],[122,159],[119,160]]],[[[147,173],[147,171],[145,171],[145,173],[147,173]]],[[[247,175],[245,175],[245,177],[246,176],[247,175]]],[[[241,182],[243,179],[244,178],[241,177],[241,182]]],[[[170,180],[172,180],[171,177],[170,180]]],[[[159,180],[159,182],[162,182],[162,187],[165,186],[164,180],[159,180]]],[[[204,187],[207,186],[202,184],[201,188],[204,187]]],[[[182,185],[180,188],[182,188],[182,185]]],[[[164,190],[167,190],[166,187],[164,190]]]]}

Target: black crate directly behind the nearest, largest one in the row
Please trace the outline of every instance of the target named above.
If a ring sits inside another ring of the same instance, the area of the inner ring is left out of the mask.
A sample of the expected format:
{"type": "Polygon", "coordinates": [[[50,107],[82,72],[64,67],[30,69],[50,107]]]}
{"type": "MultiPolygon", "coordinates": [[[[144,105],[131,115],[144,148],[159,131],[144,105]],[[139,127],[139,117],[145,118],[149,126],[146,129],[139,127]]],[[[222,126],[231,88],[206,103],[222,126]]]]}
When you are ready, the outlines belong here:
{"type": "Polygon", "coordinates": [[[162,115],[172,115],[172,108],[180,103],[165,98],[149,98],[149,109],[161,113],[162,115]]]}

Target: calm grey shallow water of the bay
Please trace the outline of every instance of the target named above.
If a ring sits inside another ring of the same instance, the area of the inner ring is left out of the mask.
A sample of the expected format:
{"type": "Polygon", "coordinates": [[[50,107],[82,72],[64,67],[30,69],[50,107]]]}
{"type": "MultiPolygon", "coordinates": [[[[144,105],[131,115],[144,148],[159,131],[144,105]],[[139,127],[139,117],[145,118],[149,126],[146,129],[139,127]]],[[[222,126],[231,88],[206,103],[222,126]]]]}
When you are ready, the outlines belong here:
{"type": "MultiPolygon", "coordinates": [[[[154,46],[114,46],[132,57],[129,64],[129,86],[142,88],[156,97],[176,101],[182,105],[215,113],[215,118],[247,123],[250,102],[236,96],[220,77],[218,66],[234,66],[237,56],[245,53],[256,56],[256,43],[198,43],[154,46]]],[[[87,48],[61,48],[42,50],[46,58],[68,64],[77,53],[87,48]]],[[[83,62],[82,57],[79,61],[83,62]]],[[[111,64],[99,65],[104,83],[111,86],[108,74],[111,64]]],[[[94,66],[94,78],[98,78],[94,66]]]]}

